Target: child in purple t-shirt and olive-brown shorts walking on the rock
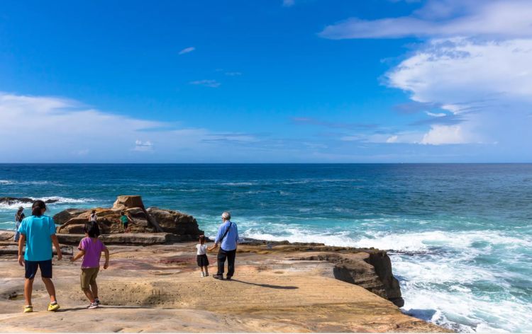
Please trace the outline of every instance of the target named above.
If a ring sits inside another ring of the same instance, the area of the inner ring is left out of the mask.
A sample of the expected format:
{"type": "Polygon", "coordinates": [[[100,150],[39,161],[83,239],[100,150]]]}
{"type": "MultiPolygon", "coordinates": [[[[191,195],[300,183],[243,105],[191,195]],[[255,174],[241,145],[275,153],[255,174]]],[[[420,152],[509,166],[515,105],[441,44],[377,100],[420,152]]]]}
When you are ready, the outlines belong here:
{"type": "Polygon", "coordinates": [[[82,258],[82,290],[90,303],[87,309],[98,309],[100,299],[98,298],[98,284],[96,284],[96,277],[100,270],[101,252],[105,253],[104,269],[109,267],[109,250],[103,242],[98,238],[100,229],[98,224],[94,221],[89,221],[84,226],[85,237],[79,242],[79,253],[76,254],[70,261],[82,258]]]}

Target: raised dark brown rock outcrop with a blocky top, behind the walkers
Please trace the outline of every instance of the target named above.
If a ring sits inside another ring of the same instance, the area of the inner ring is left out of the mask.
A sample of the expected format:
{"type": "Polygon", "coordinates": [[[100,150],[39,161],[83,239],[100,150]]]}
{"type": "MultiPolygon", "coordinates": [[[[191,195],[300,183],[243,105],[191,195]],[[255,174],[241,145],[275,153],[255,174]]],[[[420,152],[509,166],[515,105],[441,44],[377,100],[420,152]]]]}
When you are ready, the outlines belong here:
{"type": "MultiPolygon", "coordinates": [[[[145,209],[142,197],[137,195],[118,196],[111,208],[95,208],[102,234],[118,234],[123,232],[120,217],[126,212],[131,222],[129,227],[133,233],[166,232],[176,234],[181,241],[196,240],[204,232],[198,227],[194,217],[181,212],[148,208],[145,209]],[[164,226],[164,227],[162,227],[164,226]]],[[[61,222],[57,229],[59,234],[83,234],[84,224],[87,223],[92,209],[67,209],[54,216],[54,220],[61,222]],[[66,221],[65,221],[66,220],[66,221]]],[[[125,240],[125,239],[124,239],[125,240]]]]}

